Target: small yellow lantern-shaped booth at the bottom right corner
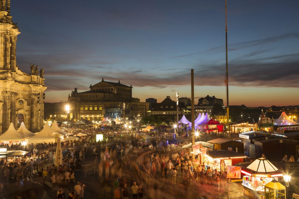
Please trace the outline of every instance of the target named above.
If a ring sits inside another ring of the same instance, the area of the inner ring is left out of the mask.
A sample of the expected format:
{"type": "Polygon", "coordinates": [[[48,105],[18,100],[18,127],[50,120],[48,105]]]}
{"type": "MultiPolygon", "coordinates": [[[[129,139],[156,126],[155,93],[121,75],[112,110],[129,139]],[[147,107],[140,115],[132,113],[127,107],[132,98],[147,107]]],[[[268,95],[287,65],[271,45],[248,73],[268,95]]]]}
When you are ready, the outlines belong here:
{"type": "Polygon", "coordinates": [[[286,187],[272,180],[265,184],[265,199],[286,199],[286,187]]]}

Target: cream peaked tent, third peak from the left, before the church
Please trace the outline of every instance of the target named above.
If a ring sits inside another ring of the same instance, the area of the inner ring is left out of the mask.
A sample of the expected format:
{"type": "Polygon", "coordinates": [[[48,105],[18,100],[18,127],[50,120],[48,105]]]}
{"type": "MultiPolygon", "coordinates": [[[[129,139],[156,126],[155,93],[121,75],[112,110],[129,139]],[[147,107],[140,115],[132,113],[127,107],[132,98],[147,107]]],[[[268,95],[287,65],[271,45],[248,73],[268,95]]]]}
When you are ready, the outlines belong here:
{"type": "MultiPolygon", "coordinates": [[[[55,137],[56,137],[55,134],[57,134],[57,132],[53,131],[50,128],[49,123],[46,122],[44,128],[40,132],[38,132],[36,135],[34,135],[28,139],[28,143],[34,144],[34,143],[41,143],[41,142],[42,143],[43,142],[55,142],[55,137]]],[[[60,137],[63,138],[62,135],[60,137]]]]}

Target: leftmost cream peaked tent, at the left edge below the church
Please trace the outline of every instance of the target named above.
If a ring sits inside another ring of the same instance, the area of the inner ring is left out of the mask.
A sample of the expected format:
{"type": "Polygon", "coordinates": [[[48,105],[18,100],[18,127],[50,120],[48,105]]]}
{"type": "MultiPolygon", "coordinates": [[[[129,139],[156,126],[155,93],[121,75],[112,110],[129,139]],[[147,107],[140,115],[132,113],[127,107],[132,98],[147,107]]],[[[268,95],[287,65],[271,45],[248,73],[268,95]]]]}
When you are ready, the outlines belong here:
{"type": "Polygon", "coordinates": [[[11,122],[7,131],[0,135],[0,142],[3,144],[19,144],[20,141],[28,140],[29,137],[18,132],[11,122]]]}

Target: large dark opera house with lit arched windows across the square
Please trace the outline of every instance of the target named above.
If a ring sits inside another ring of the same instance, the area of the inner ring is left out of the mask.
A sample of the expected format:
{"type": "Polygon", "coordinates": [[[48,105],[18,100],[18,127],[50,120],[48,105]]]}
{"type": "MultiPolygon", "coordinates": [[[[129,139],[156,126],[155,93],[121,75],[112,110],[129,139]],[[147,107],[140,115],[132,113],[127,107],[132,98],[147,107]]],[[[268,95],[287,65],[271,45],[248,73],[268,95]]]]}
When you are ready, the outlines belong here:
{"type": "Polygon", "coordinates": [[[90,85],[90,90],[78,92],[77,88],[68,96],[68,101],[58,104],[58,112],[55,112],[58,121],[66,120],[90,120],[100,121],[103,117],[122,118],[142,117],[149,110],[148,102],[140,102],[138,98],[132,98],[132,85],[127,86],[118,83],[102,81],[90,85]],[[65,105],[69,105],[69,114],[65,111],[65,105]]]}

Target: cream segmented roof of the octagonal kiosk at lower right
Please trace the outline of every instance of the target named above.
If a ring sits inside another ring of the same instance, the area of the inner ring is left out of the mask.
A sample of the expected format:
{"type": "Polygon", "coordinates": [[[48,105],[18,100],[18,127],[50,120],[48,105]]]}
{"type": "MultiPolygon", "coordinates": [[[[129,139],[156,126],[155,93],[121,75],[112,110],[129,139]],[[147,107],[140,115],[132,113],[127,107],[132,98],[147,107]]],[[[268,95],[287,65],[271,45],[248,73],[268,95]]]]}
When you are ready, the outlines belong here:
{"type": "Polygon", "coordinates": [[[265,158],[257,158],[246,169],[250,169],[256,173],[269,173],[275,172],[278,169],[269,160],[265,158]]]}

